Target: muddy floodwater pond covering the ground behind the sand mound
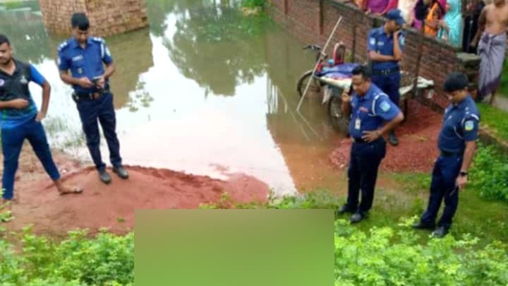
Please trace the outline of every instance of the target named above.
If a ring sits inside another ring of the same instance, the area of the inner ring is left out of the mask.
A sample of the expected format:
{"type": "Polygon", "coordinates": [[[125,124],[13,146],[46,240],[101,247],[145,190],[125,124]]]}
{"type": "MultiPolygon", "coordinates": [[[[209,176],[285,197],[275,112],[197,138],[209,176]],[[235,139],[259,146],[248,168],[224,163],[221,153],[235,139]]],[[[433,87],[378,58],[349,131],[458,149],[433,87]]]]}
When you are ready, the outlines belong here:
{"type": "MultiPolygon", "coordinates": [[[[36,1],[24,5],[0,11],[0,32],[16,58],[30,61],[52,85],[44,121],[51,144],[90,160],[71,87],[56,67],[64,38],[44,29],[36,1]]],[[[243,17],[236,1],[147,6],[150,28],[106,39],[116,61],[111,88],[126,164],[222,179],[243,172],[277,193],[339,184],[327,156],[341,136],[325,105],[306,100],[303,117],[296,113],[296,81],[315,56],[303,51],[307,43],[270,20],[243,17]]],[[[30,88],[40,106],[40,88],[30,88]]]]}

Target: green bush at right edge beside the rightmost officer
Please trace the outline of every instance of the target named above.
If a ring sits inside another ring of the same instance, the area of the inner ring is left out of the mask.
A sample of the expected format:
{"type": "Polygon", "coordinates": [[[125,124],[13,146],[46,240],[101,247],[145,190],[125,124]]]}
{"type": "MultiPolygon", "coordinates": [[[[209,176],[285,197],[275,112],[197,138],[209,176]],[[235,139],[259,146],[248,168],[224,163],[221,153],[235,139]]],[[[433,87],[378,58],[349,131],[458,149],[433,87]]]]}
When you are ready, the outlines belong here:
{"type": "Polygon", "coordinates": [[[508,157],[492,146],[480,145],[474,157],[469,189],[479,191],[485,198],[508,202],[508,157]]]}

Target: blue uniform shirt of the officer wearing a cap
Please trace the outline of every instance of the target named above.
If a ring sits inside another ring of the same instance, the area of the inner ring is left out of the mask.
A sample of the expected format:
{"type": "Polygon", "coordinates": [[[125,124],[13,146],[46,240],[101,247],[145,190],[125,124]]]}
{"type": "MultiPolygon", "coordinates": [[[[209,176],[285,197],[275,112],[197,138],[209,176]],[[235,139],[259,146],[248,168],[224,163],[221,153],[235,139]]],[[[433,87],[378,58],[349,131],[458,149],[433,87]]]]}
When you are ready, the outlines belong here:
{"type": "MultiPolygon", "coordinates": [[[[404,51],[404,42],[406,36],[404,32],[399,33],[399,47],[402,51],[404,51]]],[[[379,52],[385,56],[393,56],[394,55],[394,39],[393,35],[387,35],[385,32],[385,28],[382,26],[380,28],[375,28],[370,30],[368,35],[368,44],[367,49],[368,52],[374,51],[379,52]]],[[[397,68],[399,66],[397,61],[373,61],[373,69],[390,69],[397,68]]]]}

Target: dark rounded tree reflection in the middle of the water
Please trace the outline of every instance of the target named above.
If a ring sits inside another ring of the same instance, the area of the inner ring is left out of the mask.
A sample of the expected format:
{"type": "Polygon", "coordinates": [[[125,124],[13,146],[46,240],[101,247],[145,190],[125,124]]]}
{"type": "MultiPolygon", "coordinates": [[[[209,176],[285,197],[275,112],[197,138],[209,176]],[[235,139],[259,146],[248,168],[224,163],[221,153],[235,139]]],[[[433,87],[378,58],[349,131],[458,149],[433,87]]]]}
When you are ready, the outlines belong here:
{"type": "Polygon", "coordinates": [[[171,61],[215,95],[235,95],[236,85],[253,83],[265,72],[263,35],[243,34],[264,27],[241,16],[238,4],[192,3],[171,15],[175,30],[164,38],[171,61]]]}

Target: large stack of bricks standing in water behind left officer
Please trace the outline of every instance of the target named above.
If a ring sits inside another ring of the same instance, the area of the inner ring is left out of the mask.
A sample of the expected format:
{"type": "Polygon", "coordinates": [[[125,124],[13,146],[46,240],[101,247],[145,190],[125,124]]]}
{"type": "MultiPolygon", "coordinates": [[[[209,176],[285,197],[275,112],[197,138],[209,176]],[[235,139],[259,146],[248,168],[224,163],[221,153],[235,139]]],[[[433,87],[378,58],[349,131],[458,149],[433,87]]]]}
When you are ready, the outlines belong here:
{"type": "Polygon", "coordinates": [[[148,25],[146,0],[39,0],[48,30],[68,35],[71,15],[85,12],[93,35],[106,37],[148,25]]]}

